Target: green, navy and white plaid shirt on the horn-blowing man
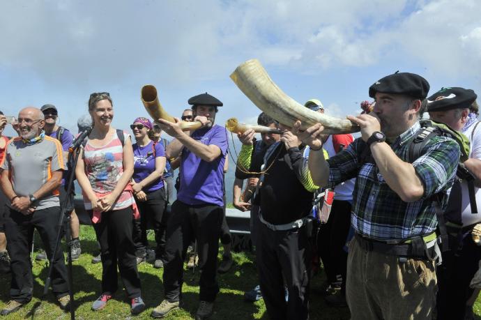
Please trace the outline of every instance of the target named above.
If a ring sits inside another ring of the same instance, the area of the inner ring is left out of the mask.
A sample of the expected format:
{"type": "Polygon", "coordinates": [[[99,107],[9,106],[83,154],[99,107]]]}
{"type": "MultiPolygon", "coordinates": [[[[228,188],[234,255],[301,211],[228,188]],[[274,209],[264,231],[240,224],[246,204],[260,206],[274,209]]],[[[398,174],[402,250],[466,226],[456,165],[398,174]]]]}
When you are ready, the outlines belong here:
{"type": "MultiPolygon", "coordinates": [[[[420,129],[417,122],[390,146],[403,161],[409,162],[409,139],[420,129]]],[[[459,161],[459,145],[448,137],[434,137],[427,142],[421,156],[413,162],[424,185],[424,195],[405,202],[388,186],[375,163],[360,163],[362,147],[356,139],[344,151],[328,161],[330,188],[356,178],[353,192],[351,224],[362,236],[380,241],[402,240],[432,233],[437,226],[435,197],[444,210],[459,161]]]]}

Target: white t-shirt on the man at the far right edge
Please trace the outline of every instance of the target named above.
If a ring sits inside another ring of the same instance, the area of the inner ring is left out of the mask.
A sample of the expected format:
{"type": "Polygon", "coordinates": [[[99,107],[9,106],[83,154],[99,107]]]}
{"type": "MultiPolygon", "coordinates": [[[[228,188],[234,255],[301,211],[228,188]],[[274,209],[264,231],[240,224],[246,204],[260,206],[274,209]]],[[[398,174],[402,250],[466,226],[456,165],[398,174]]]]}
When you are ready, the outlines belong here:
{"type": "MultiPolygon", "coordinates": [[[[473,123],[464,135],[468,137],[470,143],[469,158],[481,160],[481,124],[479,122],[473,123]],[[474,130],[474,133],[473,133],[474,130]]],[[[471,213],[471,204],[469,203],[468,184],[461,183],[462,190],[462,204],[461,204],[461,221],[463,226],[481,222],[481,192],[480,188],[474,188],[476,194],[476,206],[478,206],[478,213],[471,213]]]]}

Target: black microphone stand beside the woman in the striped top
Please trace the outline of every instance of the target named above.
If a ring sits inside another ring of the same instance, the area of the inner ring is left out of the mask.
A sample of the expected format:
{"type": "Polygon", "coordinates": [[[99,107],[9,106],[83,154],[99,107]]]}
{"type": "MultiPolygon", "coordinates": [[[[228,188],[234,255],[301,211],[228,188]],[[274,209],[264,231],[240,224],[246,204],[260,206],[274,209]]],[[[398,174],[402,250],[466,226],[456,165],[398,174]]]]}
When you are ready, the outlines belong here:
{"type": "MultiPolygon", "coordinates": [[[[64,218],[66,219],[66,243],[68,245],[68,294],[70,295],[70,319],[75,320],[75,308],[74,308],[74,300],[73,300],[73,277],[72,277],[72,234],[70,231],[70,213],[67,213],[67,204],[68,204],[68,197],[70,197],[70,193],[72,192],[72,185],[75,176],[75,167],[77,167],[77,160],[79,160],[79,153],[80,153],[80,144],[71,150],[72,152],[72,160],[73,166],[70,172],[68,172],[68,182],[67,182],[67,197],[66,201],[63,201],[60,211],[60,218],[59,218],[59,231],[56,235],[56,243],[54,247],[54,251],[51,254],[50,261],[49,261],[49,269],[47,273],[47,279],[45,280],[45,286],[43,287],[43,295],[45,296],[48,292],[50,287],[51,277],[52,277],[52,270],[54,267],[54,259],[56,251],[60,245],[61,241],[61,234],[62,234],[62,226],[64,218]]],[[[63,254],[62,254],[63,256],[63,254]]],[[[63,257],[62,257],[63,259],[63,257]]]]}

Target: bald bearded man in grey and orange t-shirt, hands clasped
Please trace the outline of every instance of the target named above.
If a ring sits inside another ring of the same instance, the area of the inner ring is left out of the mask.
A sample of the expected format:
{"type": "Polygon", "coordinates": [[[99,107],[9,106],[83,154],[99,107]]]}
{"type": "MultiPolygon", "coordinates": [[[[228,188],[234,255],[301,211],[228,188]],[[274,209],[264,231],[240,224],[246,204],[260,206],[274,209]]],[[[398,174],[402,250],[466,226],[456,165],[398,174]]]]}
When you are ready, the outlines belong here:
{"type": "MultiPolygon", "coordinates": [[[[29,303],[33,275],[29,259],[31,234],[37,229],[47,251],[54,254],[60,216],[59,187],[66,169],[59,140],[45,135],[40,109],[26,107],[18,114],[20,137],[8,142],[1,160],[0,185],[7,198],[5,231],[8,239],[12,282],[10,301],[1,315],[29,303]]],[[[67,270],[59,246],[54,254],[52,291],[62,309],[70,305],[67,270]]]]}

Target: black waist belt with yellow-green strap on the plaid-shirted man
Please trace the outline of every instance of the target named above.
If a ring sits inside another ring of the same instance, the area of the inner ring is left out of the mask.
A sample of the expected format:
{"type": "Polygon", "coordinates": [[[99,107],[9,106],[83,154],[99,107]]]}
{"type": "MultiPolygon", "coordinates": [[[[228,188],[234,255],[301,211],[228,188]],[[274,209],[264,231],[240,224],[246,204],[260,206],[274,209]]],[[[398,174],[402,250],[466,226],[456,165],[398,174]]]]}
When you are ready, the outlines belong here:
{"type": "Polygon", "coordinates": [[[393,256],[400,256],[400,257],[410,257],[410,258],[418,258],[418,259],[432,259],[432,257],[436,256],[436,241],[437,236],[435,233],[429,234],[427,236],[423,236],[422,238],[409,239],[404,241],[403,243],[392,244],[392,243],[385,243],[382,241],[376,241],[373,239],[365,238],[360,234],[356,233],[356,239],[358,240],[359,245],[367,250],[373,252],[379,252],[381,254],[388,254],[393,256]],[[434,236],[433,236],[434,235],[434,236]],[[433,238],[433,240],[429,240],[433,238]],[[418,246],[413,245],[413,241],[418,244],[422,239],[422,243],[424,243],[423,248],[419,248],[418,246]],[[429,241],[426,241],[429,240],[429,241]]]}

